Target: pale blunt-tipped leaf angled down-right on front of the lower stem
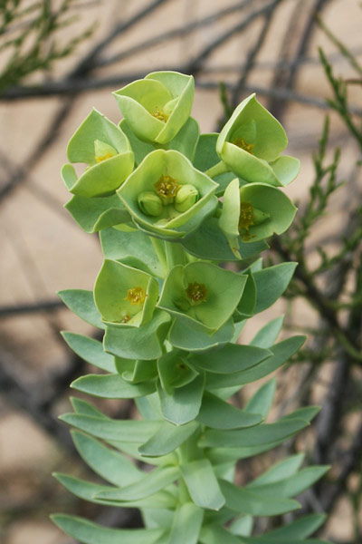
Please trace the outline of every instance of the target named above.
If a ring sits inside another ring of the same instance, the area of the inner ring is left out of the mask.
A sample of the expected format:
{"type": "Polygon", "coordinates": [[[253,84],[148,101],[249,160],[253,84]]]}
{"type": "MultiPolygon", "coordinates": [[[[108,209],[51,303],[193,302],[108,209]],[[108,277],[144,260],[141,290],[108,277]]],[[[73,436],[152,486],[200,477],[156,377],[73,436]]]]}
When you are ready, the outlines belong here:
{"type": "Polygon", "coordinates": [[[220,510],[225,503],[223,493],[207,459],[192,461],[180,466],[192,500],[201,508],[220,510]]]}

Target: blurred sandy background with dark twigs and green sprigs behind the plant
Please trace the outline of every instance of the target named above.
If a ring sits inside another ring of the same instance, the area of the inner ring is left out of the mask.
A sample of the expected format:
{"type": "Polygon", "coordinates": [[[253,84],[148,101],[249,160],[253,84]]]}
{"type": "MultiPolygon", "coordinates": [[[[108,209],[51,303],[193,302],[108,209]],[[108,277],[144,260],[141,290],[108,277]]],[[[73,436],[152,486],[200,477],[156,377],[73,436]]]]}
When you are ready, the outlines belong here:
{"type": "MultiPolygon", "coordinates": [[[[195,75],[193,115],[204,132],[257,92],[301,160],[287,189],[299,203],[296,223],[265,256],[300,265],[241,341],[284,313],[283,334],[309,339],[279,372],[274,415],[307,403],[322,411],[296,441],[243,461],[239,478],[306,450],[308,461],[332,469],[303,495],[303,512],[329,512],[321,536],[362,542],[361,38],[357,0],[0,2],[2,544],[71,544],[48,520],[52,511],[115,527],[139,522],[132,510],[82,503],[51,477],[87,474],[57,416],[69,411],[71,380],[89,369],[59,331],[97,334],[56,291],[92,288],[101,265],[97,236],[62,208],[69,195],[59,172],[91,107],[119,121],[110,92],[158,69],[195,75]]],[[[237,401],[251,393],[246,387],[237,401]]],[[[130,403],[99,404],[115,417],[133,414],[130,403]]],[[[260,520],[257,529],[278,522],[260,520]]]]}

